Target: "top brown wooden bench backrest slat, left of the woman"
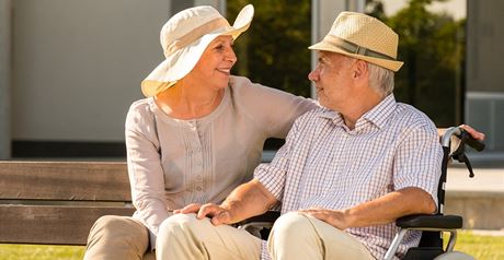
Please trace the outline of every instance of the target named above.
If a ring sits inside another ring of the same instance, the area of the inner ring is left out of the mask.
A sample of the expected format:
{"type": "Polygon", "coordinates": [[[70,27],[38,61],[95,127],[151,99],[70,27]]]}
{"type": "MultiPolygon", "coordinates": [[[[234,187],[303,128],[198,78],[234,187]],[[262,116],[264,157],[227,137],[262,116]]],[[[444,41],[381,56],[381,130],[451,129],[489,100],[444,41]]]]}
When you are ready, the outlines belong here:
{"type": "Polygon", "coordinates": [[[0,162],[0,199],[130,201],[124,162],[0,162]]]}

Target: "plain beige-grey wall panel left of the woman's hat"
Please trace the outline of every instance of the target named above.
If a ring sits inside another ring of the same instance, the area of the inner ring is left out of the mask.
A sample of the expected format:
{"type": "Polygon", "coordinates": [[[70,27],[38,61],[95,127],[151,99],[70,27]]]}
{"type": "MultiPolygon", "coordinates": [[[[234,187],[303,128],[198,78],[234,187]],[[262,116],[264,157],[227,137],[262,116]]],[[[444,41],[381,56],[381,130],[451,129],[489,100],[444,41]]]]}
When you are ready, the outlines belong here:
{"type": "Polygon", "coordinates": [[[12,138],[121,141],[140,81],[162,60],[168,0],[16,0],[12,138]]]}

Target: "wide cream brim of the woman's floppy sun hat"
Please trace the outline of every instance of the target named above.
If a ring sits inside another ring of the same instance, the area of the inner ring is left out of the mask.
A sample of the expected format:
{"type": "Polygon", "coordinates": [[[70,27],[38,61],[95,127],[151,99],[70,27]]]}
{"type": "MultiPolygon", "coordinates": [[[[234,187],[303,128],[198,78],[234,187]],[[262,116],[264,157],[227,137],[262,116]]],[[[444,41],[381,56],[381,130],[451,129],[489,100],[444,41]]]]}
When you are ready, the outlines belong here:
{"type": "Polygon", "coordinates": [[[170,55],[141,82],[144,95],[147,97],[154,96],[173,86],[176,81],[194,69],[205,49],[215,38],[221,35],[231,35],[233,39],[238,38],[250,27],[253,16],[254,8],[252,4],[248,4],[240,11],[232,26],[210,32],[170,55]]]}

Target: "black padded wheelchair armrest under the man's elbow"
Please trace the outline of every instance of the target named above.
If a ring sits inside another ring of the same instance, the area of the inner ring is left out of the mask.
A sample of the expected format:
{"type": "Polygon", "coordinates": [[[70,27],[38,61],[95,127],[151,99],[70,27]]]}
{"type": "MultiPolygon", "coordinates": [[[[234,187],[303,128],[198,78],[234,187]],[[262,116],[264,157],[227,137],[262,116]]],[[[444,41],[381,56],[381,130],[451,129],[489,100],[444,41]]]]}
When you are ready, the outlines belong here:
{"type": "Polygon", "coordinates": [[[453,229],[462,227],[462,217],[458,215],[408,215],[396,221],[402,228],[453,229]]]}

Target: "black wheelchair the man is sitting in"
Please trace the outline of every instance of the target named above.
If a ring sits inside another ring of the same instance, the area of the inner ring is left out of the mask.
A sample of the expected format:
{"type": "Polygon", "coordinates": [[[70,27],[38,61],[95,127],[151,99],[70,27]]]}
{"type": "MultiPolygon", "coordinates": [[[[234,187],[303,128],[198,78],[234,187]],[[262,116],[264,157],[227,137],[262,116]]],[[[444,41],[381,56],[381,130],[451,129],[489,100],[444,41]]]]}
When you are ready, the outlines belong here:
{"type": "MultiPolygon", "coordinates": [[[[473,257],[454,251],[457,240],[457,229],[462,227],[462,217],[458,215],[445,215],[445,185],[448,164],[451,159],[465,163],[469,169],[469,177],[472,178],[474,173],[469,158],[466,155],[466,146],[470,146],[480,152],[484,150],[484,143],[474,140],[467,131],[460,127],[451,127],[446,130],[440,139],[443,145],[443,164],[442,175],[437,188],[438,213],[436,214],[416,214],[400,217],[396,225],[400,227],[399,232],[390,245],[385,259],[394,258],[405,234],[410,231],[421,231],[422,237],[417,247],[408,250],[403,259],[405,260],[447,260],[447,259],[474,259],[473,257]],[[458,143],[457,143],[458,142],[458,143]],[[453,151],[453,147],[454,149],[453,151]],[[449,233],[447,246],[443,246],[443,233],[449,233]]],[[[262,239],[267,239],[274,221],[279,216],[278,211],[268,211],[262,215],[251,217],[238,224],[238,228],[243,228],[252,235],[262,239]]]]}

